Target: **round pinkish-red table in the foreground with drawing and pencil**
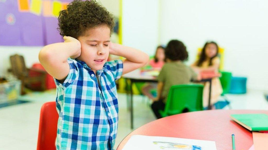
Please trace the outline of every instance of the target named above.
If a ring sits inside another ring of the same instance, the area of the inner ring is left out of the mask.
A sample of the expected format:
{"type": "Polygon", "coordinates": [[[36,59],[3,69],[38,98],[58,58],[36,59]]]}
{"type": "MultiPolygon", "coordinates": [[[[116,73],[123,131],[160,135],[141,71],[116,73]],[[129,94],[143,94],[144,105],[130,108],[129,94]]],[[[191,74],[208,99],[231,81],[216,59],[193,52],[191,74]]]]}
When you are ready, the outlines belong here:
{"type": "Polygon", "coordinates": [[[217,150],[248,150],[253,144],[252,132],[230,119],[231,114],[266,113],[267,110],[204,110],[182,113],[147,123],[129,133],[118,145],[121,150],[132,135],[166,136],[215,141],[217,150]]]}

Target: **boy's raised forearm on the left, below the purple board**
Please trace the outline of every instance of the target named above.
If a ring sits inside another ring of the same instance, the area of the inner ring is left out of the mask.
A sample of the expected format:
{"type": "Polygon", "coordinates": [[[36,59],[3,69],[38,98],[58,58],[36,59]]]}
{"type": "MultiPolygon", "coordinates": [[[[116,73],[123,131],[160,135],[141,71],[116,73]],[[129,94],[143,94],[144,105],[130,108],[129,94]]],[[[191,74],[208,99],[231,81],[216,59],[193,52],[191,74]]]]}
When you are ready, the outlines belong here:
{"type": "Polygon", "coordinates": [[[78,42],[61,42],[45,46],[39,53],[39,59],[45,61],[64,62],[71,56],[81,53],[81,44],[78,42]]]}

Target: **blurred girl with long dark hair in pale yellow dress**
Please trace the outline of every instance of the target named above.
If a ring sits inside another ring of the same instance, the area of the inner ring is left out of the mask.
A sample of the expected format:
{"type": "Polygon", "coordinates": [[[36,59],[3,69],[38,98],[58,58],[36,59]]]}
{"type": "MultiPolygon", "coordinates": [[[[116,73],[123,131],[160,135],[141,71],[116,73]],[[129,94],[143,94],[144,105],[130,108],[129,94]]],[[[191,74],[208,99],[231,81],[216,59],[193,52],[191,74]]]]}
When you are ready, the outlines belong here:
{"type": "MultiPolygon", "coordinates": [[[[193,63],[191,66],[197,72],[203,71],[214,71],[218,72],[220,59],[218,57],[219,47],[217,43],[211,41],[206,42],[202,52],[200,54],[199,60],[193,63]]],[[[211,81],[211,101],[210,104],[214,104],[218,101],[219,96],[222,93],[221,82],[218,77],[215,77],[211,81]]],[[[203,91],[203,107],[208,106],[209,101],[209,82],[204,85],[203,91]]]]}

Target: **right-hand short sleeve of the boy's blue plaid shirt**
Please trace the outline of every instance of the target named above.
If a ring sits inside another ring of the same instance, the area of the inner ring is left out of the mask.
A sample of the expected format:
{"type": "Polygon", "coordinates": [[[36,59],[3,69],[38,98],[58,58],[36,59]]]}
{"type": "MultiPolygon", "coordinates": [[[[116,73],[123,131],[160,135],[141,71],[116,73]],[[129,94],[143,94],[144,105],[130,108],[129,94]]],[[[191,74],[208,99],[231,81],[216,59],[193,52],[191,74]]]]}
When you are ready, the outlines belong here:
{"type": "Polygon", "coordinates": [[[123,73],[123,62],[122,60],[107,61],[106,69],[111,72],[114,77],[114,80],[118,80],[123,73]]]}

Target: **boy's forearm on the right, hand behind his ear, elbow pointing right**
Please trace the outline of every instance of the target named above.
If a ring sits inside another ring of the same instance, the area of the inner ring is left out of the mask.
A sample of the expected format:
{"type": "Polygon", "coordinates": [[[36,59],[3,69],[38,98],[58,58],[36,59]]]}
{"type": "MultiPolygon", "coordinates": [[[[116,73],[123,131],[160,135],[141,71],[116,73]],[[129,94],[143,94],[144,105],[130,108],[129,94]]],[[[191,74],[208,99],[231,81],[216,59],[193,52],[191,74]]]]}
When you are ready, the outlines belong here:
{"type": "Polygon", "coordinates": [[[140,50],[124,46],[121,44],[112,44],[110,47],[110,54],[125,57],[127,60],[146,64],[148,61],[148,55],[140,50]]]}

